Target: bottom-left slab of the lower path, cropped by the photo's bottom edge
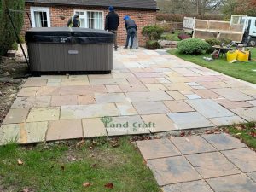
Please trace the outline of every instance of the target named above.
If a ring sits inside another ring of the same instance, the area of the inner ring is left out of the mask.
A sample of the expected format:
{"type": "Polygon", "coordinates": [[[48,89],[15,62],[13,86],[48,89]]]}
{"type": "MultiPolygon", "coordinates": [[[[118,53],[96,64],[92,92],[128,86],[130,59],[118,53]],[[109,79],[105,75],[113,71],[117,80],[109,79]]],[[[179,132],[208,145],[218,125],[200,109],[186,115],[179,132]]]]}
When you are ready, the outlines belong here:
{"type": "Polygon", "coordinates": [[[202,180],[166,185],[162,190],[163,192],[213,192],[210,186],[202,180]]]}

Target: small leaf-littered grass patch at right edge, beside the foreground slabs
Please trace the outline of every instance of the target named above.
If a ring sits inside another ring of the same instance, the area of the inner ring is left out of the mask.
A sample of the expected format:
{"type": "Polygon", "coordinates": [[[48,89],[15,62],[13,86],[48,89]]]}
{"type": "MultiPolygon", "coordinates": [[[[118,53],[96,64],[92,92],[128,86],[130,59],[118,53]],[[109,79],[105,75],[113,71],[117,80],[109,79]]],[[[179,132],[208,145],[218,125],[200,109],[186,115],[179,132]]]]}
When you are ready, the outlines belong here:
{"type": "Polygon", "coordinates": [[[229,133],[241,139],[248,147],[256,150],[256,124],[248,123],[245,125],[231,125],[228,127],[229,133]]]}

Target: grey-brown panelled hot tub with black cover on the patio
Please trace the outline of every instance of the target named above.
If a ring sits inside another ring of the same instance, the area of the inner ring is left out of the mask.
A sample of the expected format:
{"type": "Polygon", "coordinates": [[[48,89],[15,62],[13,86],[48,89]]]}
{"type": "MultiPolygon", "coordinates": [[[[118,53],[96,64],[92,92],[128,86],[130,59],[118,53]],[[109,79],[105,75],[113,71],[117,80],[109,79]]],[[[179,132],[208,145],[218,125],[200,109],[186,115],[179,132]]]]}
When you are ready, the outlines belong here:
{"type": "Polygon", "coordinates": [[[111,73],[111,32],[85,28],[49,27],[26,31],[32,72],[111,73]]]}

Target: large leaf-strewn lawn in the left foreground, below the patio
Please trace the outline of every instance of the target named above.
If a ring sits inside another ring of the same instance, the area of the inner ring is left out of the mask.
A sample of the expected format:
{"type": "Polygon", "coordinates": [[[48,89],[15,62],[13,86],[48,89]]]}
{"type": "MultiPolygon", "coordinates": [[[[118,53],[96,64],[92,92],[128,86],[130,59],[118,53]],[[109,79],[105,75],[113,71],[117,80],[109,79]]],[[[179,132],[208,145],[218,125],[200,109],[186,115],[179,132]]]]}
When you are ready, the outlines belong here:
{"type": "Polygon", "coordinates": [[[120,138],[118,147],[104,139],[80,148],[76,143],[9,144],[0,147],[0,154],[0,191],[160,191],[128,137],[120,138]],[[24,164],[19,166],[17,160],[24,164]],[[106,183],[113,183],[113,189],[104,187],[106,183]]]}

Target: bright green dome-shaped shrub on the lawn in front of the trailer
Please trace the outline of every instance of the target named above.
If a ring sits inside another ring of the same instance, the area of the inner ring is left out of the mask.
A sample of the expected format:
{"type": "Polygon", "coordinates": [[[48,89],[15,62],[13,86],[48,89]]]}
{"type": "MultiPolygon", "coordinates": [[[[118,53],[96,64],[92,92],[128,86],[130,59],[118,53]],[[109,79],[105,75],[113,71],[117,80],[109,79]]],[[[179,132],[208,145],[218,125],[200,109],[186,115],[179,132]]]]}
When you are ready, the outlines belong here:
{"type": "Polygon", "coordinates": [[[200,38],[188,38],[177,44],[177,50],[187,55],[201,55],[209,49],[209,44],[200,38]]]}

